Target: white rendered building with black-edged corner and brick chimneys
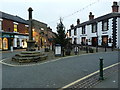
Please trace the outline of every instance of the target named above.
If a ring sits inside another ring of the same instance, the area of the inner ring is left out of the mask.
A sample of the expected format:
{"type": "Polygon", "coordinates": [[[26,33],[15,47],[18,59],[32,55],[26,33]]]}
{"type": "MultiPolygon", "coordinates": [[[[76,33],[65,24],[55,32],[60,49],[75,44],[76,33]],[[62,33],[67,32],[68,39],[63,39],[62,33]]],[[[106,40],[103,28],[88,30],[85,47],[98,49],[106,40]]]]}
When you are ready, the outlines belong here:
{"type": "Polygon", "coordinates": [[[113,2],[112,13],[97,17],[90,12],[89,21],[77,25],[71,25],[68,30],[72,44],[83,44],[90,46],[112,45],[120,48],[120,12],[117,2],[113,2]]]}

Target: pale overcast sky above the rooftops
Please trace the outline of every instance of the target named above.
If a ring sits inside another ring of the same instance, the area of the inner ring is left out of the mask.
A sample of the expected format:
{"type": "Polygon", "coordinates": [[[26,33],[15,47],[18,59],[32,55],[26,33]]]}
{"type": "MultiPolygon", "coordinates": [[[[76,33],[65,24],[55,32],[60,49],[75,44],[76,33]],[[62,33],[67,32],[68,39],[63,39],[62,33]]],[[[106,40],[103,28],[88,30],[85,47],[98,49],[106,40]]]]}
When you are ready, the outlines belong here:
{"type": "Polygon", "coordinates": [[[78,18],[80,23],[88,21],[89,12],[95,18],[111,13],[113,1],[120,0],[0,0],[0,11],[28,20],[28,8],[32,7],[33,19],[56,32],[60,17],[67,31],[78,18]]]}

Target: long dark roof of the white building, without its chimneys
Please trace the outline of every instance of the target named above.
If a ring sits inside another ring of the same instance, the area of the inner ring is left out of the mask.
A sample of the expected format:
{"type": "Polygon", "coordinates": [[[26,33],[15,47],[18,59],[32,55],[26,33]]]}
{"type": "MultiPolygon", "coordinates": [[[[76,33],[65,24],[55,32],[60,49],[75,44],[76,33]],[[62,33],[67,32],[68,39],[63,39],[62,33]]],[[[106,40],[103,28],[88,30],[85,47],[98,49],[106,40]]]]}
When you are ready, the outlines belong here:
{"type": "MultiPolygon", "coordinates": [[[[100,21],[103,21],[106,19],[113,18],[113,17],[120,17],[120,13],[118,13],[118,12],[109,13],[109,14],[97,17],[95,19],[80,23],[80,24],[76,25],[74,28],[79,28],[79,27],[82,27],[84,25],[90,25],[90,24],[97,23],[97,22],[100,22],[100,21]]],[[[74,29],[74,28],[72,28],[72,29],[74,29]]],[[[69,29],[69,30],[71,30],[71,29],[69,29]]]]}

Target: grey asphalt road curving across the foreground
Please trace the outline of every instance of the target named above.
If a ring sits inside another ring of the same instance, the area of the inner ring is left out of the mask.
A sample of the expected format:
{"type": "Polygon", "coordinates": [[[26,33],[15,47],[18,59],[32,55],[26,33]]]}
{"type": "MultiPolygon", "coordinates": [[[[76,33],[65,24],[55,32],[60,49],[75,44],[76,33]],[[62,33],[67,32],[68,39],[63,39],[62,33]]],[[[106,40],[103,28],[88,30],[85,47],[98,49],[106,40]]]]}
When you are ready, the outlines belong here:
{"type": "Polygon", "coordinates": [[[104,52],[64,58],[33,66],[2,65],[3,88],[60,88],[99,69],[118,62],[120,52],[104,52]],[[119,55],[118,55],[119,54],[119,55]]]}

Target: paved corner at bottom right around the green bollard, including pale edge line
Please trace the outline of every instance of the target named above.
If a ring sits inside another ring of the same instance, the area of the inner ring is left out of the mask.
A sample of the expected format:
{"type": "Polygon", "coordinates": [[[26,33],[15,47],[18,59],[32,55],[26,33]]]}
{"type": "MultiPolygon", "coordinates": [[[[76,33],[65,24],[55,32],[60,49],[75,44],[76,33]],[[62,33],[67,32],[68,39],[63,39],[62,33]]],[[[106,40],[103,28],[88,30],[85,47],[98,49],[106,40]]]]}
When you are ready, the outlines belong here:
{"type": "Polygon", "coordinates": [[[99,71],[97,71],[62,87],[60,90],[66,90],[65,88],[70,88],[70,90],[75,90],[77,88],[80,88],[80,90],[119,90],[119,69],[120,63],[108,66],[104,68],[104,80],[99,80],[99,71]]]}

